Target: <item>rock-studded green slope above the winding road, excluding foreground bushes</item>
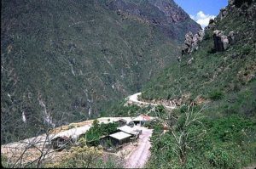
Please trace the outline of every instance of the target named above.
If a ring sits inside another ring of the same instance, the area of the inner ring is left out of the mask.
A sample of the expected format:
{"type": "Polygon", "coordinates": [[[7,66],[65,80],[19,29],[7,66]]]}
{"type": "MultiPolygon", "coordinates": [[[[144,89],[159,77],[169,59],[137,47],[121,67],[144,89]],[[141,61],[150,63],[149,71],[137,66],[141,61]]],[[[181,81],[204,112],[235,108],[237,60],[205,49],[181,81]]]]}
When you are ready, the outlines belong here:
{"type": "MultiPolygon", "coordinates": [[[[207,102],[216,95],[219,99],[232,97],[247,87],[255,96],[255,4],[246,4],[222,9],[207,27],[199,49],[183,55],[180,62],[173,62],[149,82],[143,88],[143,99],[173,99],[177,104],[193,99],[207,102]],[[223,31],[225,38],[231,35],[230,31],[234,34],[224,51],[214,48],[216,30],[223,31]]],[[[253,113],[255,107],[247,112],[253,113]]]]}

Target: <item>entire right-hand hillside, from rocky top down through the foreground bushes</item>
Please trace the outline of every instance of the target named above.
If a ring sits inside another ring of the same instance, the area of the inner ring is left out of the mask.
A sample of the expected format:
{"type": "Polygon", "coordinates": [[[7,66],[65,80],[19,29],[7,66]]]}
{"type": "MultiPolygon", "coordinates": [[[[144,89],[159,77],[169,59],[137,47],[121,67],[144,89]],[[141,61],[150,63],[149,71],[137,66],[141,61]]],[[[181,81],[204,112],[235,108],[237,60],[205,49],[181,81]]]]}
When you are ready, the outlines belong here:
{"type": "Polygon", "coordinates": [[[179,107],[151,126],[148,168],[255,168],[255,19],[255,1],[230,0],[202,41],[189,32],[183,55],[143,87],[143,99],[179,107]]]}

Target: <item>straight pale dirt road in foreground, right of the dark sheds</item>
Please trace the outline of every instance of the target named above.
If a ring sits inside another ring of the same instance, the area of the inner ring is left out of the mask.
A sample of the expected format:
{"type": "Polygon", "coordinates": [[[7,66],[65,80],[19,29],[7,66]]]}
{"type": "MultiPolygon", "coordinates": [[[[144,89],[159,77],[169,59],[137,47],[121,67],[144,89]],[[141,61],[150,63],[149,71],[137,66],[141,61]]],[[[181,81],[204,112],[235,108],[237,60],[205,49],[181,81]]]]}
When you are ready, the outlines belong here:
{"type": "Polygon", "coordinates": [[[150,156],[149,149],[151,144],[149,138],[151,137],[153,130],[145,127],[139,127],[139,129],[143,130],[143,133],[138,139],[137,149],[135,149],[127,159],[125,168],[142,168],[150,156]]]}

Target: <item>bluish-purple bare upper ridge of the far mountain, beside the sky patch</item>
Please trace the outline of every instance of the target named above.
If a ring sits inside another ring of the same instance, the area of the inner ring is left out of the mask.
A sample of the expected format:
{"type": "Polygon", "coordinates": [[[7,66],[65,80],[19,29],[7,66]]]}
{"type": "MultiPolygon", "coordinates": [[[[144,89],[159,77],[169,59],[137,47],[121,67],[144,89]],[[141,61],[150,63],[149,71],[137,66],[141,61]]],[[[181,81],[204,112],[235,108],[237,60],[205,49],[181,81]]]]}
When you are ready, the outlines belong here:
{"type": "Polygon", "coordinates": [[[201,30],[201,25],[189,18],[182,8],[173,0],[148,0],[148,1],[116,0],[107,3],[108,8],[124,16],[137,18],[154,24],[156,27],[177,42],[183,40],[185,32],[196,33],[201,30]]]}

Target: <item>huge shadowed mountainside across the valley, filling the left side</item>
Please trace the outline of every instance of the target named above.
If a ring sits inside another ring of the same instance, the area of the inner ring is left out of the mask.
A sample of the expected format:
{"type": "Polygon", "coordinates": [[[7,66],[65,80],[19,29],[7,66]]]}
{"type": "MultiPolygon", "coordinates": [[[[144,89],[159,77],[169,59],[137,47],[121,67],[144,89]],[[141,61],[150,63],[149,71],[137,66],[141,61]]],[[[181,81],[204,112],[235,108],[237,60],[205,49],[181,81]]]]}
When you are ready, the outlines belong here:
{"type": "Polygon", "coordinates": [[[201,29],[172,0],[3,0],[1,143],[97,116],[201,29]]]}

